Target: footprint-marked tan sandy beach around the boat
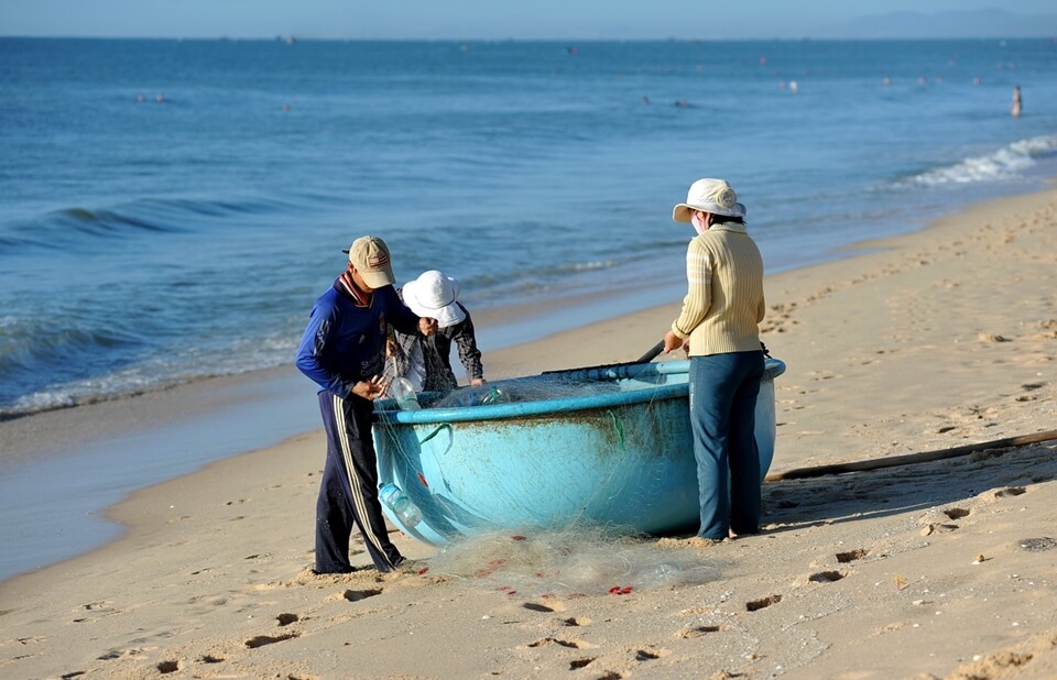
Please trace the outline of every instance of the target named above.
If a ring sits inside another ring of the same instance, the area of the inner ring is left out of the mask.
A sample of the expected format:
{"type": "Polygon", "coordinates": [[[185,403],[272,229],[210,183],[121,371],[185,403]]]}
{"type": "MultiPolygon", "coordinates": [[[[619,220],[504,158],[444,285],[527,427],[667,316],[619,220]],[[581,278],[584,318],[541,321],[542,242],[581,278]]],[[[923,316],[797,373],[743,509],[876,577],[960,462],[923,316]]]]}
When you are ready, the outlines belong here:
{"type": "MultiPolygon", "coordinates": [[[[788,366],[771,472],[1057,429],[1055,290],[1057,190],[770,276],[763,339],[788,366]]],[[[632,360],[677,304],[487,352],[488,375],[632,360]]],[[[105,429],[140,408],[124,406],[18,431],[105,429]]],[[[312,432],[115,506],[120,539],[0,584],[0,676],[1057,678],[1054,440],[770,481],[761,536],[643,541],[699,568],[626,594],[608,573],[466,578],[399,533],[415,570],[379,574],[361,552],[361,571],[314,575],[323,462],[312,432]]]]}

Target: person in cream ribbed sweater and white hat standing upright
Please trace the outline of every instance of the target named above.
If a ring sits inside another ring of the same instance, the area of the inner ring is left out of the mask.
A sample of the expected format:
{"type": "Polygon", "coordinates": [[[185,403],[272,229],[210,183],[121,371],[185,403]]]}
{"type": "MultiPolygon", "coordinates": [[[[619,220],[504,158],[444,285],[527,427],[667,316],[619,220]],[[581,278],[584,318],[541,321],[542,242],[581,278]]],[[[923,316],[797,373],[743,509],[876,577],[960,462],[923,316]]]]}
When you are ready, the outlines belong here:
{"type": "Polygon", "coordinates": [[[723,179],[698,179],[672,211],[694,226],[686,251],[687,294],[664,351],[690,359],[690,429],[701,527],[722,540],[760,531],[755,408],[764,354],[763,259],[745,231],[745,207],[723,179]]]}

